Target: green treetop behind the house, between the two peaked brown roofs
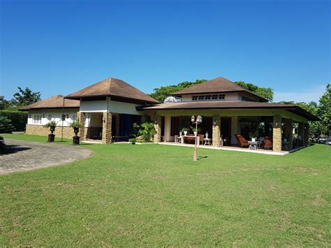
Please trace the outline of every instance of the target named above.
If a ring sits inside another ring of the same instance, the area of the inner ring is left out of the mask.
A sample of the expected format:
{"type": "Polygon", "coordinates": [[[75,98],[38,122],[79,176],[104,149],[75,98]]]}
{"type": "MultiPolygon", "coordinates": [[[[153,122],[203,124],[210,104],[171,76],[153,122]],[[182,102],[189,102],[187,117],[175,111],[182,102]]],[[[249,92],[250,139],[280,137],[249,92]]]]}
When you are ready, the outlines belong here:
{"type": "Polygon", "coordinates": [[[193,85],[198,85],[201,82],[206,82],[205,79],[196,80],[196,82],[180,82],[178,85],[168,85],[168,86],[162,86],[156,89],[153,89],[153,93],[149,94],[149,96],[152,96],[157,101],[160,101],[161,103],[168,97],[171,96],[172,93],[177,92],[181,89],[191,87],[193,85]]]}

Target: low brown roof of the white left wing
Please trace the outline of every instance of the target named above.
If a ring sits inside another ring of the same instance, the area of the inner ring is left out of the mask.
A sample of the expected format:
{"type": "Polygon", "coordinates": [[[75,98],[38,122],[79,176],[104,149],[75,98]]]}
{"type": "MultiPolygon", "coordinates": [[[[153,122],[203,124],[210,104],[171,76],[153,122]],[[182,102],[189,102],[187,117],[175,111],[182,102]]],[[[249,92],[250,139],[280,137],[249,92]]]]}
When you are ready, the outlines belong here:
{"type": "Polygon", "coordinates": [[[38,108],[80,108],[80,101],[65,99],[64,96],[52,96],[49,99],[38,101],[20,108],[21,111],[33,110],[38,108]]]}

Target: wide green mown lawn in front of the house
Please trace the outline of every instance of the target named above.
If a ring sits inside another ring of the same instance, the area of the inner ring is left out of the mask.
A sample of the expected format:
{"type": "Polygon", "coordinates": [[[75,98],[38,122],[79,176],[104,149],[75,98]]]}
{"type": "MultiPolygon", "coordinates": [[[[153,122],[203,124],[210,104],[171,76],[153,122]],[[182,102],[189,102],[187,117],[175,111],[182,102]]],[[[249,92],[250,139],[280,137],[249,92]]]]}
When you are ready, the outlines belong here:
{"type": "Polygon", "coordinates": [[[198,162],[191,147],[82,146],[94,156],[0,177],[1,246],[330,246],[330,146],[198,162]]]}

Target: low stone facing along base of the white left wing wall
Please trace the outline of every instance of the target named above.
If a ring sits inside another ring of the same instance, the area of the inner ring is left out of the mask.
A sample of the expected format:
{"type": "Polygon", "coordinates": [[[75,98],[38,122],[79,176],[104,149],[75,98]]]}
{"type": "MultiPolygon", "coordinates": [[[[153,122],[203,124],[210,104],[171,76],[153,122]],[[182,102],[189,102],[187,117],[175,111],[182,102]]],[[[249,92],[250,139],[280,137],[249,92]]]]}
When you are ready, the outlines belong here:
{"type": "MultiPolygon", "coordinates": [[[[50,134],[50,129],[44,128],[42,125],[28,125],[26,126],[27,134],[32,134],[36,136],[48,136],[50,134]]],[[[70,126],[57,126],[54,131],[55,138],[68,138],[71,139],[75,136],[73,128],[70,126]]]]}

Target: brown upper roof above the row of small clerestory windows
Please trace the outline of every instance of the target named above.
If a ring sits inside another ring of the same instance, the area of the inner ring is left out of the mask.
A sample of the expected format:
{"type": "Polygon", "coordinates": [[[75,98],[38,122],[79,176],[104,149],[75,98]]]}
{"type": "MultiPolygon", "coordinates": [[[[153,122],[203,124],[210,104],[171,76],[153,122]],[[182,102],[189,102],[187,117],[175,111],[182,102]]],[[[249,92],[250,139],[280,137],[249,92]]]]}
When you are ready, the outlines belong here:
{"type": "MultiPolygon", "coordinates": [[[[198,85],[193,85],[191,87],[179,90],[173,93],[173,96],[182,96],[186,94],[206,94],[206,93],[221,93],[221,92],[247,92],[254,96],[258,96],[254,92],[245,89],[239,85],[235,85],[234,82],[227,80],[226,78],[214,78],[212,80],[202,82],[198,85]]],[[[261,96],[258,96],[261,101],[267,101],[261,96]]]]}

